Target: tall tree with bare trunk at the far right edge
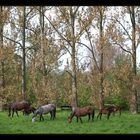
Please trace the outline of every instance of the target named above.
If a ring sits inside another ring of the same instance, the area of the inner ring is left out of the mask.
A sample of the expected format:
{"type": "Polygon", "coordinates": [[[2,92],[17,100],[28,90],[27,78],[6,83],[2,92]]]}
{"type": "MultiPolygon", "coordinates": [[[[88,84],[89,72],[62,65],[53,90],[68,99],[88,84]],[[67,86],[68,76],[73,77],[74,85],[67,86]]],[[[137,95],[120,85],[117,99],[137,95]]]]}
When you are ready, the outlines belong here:
{"type": "Polygon", "coordinates": [[[117,37],[113,38],[113,42],[114,44],[118,45],[124,52],[128,53],[131,56],[132,73],[130,79],[130,112],[132,114],[136,114],[138,112],[137,88],[134,82],[135,79],[137,79],[136,49],[140,43],[140,29],[138,26],[138,18],[136,18],[138,17],[138,12],[139,7],[127,6],[122,8],[120,19],[118,19],[119,14],[114,17],[114,20],[116,21],[116,23],[118,23],[118,25],[116,25],[119,26],[119,28],[118,30],[115,30],[117,32],[117,37]]]}

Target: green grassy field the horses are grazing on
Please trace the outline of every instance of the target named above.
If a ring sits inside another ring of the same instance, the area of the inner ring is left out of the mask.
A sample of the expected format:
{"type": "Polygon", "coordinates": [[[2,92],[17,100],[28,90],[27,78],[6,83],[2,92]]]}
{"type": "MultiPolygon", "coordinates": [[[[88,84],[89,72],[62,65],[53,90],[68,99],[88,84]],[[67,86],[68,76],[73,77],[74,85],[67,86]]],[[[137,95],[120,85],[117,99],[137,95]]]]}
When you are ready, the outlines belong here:
{"type": "Polygon", "coordinates": [[[111,115],[107,120],[97,120],[97,113],[94,122],[88,122],[88,117],[83,117],[83,124],[77,123],[73,118],[71,124],[67,122],[70,111],[57,111],[56,119],[50,120],[50,114],[44,116],[44,122],[32,122],[32,115],[19,117],[14,115],[8,118],[8,112],[0,112],[0,134],[140,134],[140,114],[131,115],[129,112],[122,112],[111,115]]]}

